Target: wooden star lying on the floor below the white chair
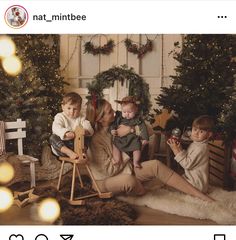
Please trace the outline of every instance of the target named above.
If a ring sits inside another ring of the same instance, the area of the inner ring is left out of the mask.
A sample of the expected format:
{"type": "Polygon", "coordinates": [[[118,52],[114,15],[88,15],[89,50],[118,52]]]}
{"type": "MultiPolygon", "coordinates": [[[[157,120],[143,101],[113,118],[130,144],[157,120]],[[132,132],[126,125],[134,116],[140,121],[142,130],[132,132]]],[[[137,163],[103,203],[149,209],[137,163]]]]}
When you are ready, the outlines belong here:
{"type": "Polygon", "coordinates": [[[33,194],[34,189],[31,188],[25,192],[14,192],[14,204],[22,208],[29,203],[32,203],[38,199],[38,195],[33,194]]]}

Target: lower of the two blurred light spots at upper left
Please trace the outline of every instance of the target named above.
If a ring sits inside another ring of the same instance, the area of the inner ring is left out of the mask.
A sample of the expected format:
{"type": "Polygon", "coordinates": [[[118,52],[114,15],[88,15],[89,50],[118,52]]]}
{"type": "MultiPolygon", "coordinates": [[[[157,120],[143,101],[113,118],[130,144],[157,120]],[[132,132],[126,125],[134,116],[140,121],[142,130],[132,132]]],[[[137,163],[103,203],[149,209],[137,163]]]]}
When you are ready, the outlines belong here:
{"type": "Polygon", "coordinates": [[[22,70],[22,64],[17,56],[11,56],[2,60],[3,69],[12,76],[16,76],[22,70]]]}

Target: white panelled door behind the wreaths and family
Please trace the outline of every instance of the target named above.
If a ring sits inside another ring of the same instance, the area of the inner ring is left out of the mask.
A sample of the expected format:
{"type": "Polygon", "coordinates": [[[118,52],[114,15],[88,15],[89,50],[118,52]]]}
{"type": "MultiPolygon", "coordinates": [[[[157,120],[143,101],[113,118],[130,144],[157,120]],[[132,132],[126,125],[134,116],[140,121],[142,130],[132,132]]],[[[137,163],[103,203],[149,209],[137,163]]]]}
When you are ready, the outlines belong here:
{"type": "MultiPolygon", "coordinates": [[[[174,42],[180,41],[180,35],[145,35],[145,34],[117,34],[117,35],[61,35],[61,69],[66,82],[70,85],[66,91],[76,91],[83,99],[86,98],[86,84],[94,79],[99,72],[108,70],[112,66],[126,64],[134,68],[149,84],[153,108],[156,107],[154,98],[160,93],[162,86],[170,84],[169,75],[174,74],[176,62],[169,52],[173,50],[174,42]],[[124,44],[126,38],[134,44],[145,44],[147,38],[153,42],[153,50],[141,59],[137,55],[127,52],[124,44]],[[85,42],[91,41],[95,47],[104,46],[109,39],[113,39],[115,47],[109,55],[92,55],[84,53],[85,42]]],[[[116,81],[113,88],[105,89],[104,96],[116,110],[116,99],[128,94],[128,84],[116,81]]],[[[84,103],[86,100],[83,101],[84,103]]]]}

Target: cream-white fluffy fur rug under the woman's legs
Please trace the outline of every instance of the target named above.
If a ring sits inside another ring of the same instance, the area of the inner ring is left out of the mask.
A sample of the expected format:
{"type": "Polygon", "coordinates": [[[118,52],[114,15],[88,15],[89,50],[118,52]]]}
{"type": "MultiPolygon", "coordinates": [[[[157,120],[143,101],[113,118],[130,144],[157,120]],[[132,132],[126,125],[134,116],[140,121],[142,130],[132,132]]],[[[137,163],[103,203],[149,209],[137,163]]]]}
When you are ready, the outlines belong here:
{"type": "Polygon", "coordinates": [[[211,186],[209,195],[216,201],[209,203],[165,187],[154,187],[144,196],[118,199],[180,216],[210,219],[217,224],[236,224],[236,192],[211,186]]]}

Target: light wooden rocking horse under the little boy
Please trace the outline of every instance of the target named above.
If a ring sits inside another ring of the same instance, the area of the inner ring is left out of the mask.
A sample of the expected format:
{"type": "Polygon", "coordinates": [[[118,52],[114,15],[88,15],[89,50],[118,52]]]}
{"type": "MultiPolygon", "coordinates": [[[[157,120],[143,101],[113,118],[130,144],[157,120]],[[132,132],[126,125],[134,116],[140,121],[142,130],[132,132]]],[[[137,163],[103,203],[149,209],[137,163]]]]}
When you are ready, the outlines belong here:
{"type": "Polygon", "coordinates": [[[61,170],[60,170],[58,184],[57,184],[57,190],[60,189],[62,173],[63,173],[63,168],[64,168],[65,162],[69,162],[69,163],[73,164],[71,194],[70,194],[70,199],[69,199],[69,203],[71,205],[82,205],[82,204],[85,203],[84,199],[94,197],[94,196],[98,196],[99,198],[111,198],[112,197],[111,192],[101,192],[100,191],[100,189],[99,189],[99,187],[96,183],[96,180],[94,179],[92,171],[87,164],[86,155],[83,152],[83,150],[84,150],[84,134],[85,134],[85,131],[84,131],[83,128],[81,128],[81,127],[76,128],[75,139],[74,139],[74,152],[76,152],[78,154],[78,156],[79,156],[78,159],[70,159],[69,157],[59,157],[59,160],[62,161],[62,164],[61,164],[61,170]],[[82,178],[81,178],[81,175],[80,175],[80,171],[79,171],[79,165],[84,165],[85,166],[85,168],[86,168],[86,170],[89,174],[89,177],[92,180],[92,184],[93,184],[94,188],[96,189],[96,192],[74,199],[76,172],[77,172],[78,177],[79,177],[81,188],[84,187],[84,184],[83,184],[83,181],[82,181],[82,178]]]}

